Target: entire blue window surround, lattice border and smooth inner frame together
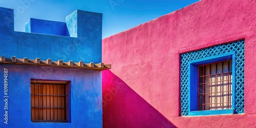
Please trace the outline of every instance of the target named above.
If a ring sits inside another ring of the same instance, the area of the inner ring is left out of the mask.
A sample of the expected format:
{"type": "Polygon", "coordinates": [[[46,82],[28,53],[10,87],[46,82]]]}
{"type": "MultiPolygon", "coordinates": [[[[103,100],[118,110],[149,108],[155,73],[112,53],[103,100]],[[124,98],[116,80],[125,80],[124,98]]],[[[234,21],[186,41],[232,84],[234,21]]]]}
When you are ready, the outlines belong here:
{"type": "Polygon", "coordinates": [[[181,54],[181,115],[244,113],[244,39],[181,54]],[[232,109],[198,111],[198,66],[232,59],[232,109]]]}

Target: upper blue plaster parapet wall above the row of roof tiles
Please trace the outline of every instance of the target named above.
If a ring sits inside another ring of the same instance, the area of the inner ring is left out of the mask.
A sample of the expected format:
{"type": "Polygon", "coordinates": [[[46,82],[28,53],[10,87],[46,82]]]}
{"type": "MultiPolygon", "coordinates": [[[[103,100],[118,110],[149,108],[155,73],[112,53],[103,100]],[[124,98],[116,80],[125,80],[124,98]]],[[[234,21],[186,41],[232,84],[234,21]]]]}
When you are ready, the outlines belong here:
{"type": "MultiPolygon", "coordinates": [[[[47,35],[30,21],[26,31],[33,30],[43,34],[14,31],[13,10],[0,8],[0,54],[11,58],[28,57],[41,60],[51,58],[53,61],[73,60],[75,62],[101,62],[102,14],[77,10],[66,17],[66,26],[71,37],[47,35]]],[[[37,20],[38,22],[39,20],[37,20]]],[[[49,22],[49,24],[53,22],[49,22]]],[[[54,28],[53,30],[56,30],[54,28]]],[[[32,31],[32,32],[33,32],[32,31]]],[[[53,34],[57,32],[51,32],[53,34]]]]}

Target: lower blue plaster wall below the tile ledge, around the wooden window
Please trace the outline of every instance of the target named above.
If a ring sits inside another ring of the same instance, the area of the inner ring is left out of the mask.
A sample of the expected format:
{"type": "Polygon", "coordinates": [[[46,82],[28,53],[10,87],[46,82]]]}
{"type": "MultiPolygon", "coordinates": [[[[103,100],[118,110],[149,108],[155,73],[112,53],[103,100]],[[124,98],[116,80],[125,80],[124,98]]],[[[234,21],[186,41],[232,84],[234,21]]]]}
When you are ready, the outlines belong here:
{"type": "Polygon", "coordinates": [[[4,86],[0,84],[0,127],[102,127],[101,72],[90,69],[0,63],[8,69],[8,124],[4,123],[4,86]],[[71,81],[69,123],[31,122],[31,79],[71,81]]]}

